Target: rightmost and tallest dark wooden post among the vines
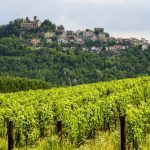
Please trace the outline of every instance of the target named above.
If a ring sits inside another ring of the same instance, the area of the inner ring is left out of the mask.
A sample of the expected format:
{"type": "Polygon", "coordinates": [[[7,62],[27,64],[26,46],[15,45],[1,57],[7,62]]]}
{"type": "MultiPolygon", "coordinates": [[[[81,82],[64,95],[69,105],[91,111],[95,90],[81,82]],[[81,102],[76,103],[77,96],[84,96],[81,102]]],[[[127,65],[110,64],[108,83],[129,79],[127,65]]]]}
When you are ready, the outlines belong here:
{"type": "Polygon", "coordinates": [[[120,143],[121,150],[126,150],[126,117],[120,117],[120,143]]]}

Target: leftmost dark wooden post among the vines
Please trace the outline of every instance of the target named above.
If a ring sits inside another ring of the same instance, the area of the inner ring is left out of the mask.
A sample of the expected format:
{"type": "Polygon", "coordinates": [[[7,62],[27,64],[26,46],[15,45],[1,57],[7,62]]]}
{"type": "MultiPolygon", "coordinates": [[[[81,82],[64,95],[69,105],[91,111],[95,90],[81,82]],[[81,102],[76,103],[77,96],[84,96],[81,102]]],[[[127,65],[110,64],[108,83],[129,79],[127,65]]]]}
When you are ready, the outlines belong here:
{"type": "Polygon", "coordinates": [[[13,150],[14,139],[13,139],[13,122],[7,120],[7,135],[8,135],[8,150],[13,150]]]}

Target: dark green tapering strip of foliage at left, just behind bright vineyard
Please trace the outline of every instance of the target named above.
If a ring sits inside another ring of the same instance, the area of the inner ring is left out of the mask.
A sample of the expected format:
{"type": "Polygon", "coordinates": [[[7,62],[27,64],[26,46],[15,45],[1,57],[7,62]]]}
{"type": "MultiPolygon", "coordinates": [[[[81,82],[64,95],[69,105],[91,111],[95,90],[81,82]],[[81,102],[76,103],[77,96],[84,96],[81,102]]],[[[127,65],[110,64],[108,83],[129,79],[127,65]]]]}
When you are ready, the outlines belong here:
{"type": "Polygon", "coordinates": [[[49,89],[52,85],[40,80],[27,78],[0,76],[0,93],[27,91],[36,89],[49,89]]]}

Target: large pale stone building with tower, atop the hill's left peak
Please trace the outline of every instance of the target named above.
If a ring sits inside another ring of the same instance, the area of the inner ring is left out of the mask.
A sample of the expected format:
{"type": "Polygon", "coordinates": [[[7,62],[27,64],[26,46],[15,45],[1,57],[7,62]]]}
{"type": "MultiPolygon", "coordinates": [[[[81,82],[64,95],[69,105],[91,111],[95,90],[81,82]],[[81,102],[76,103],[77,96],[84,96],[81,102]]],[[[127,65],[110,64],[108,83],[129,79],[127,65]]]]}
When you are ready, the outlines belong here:
{"type": "Polygon", "coordinates": [[[23,20],[21,23],[21,28],[30,30],[30,29],[36,29],[41,26],[40,20],[37,18],[37,16],[33,17],[33,21],[29,21],[28,18],[23,20]]]}

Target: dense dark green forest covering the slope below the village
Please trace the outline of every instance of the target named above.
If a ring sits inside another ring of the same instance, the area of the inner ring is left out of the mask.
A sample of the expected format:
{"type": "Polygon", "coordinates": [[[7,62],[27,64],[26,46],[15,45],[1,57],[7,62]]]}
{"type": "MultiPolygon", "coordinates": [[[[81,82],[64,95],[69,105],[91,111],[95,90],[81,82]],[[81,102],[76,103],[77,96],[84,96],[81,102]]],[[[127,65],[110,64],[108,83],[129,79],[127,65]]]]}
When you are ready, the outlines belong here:
{"type": "Polygon", "coordinates": [[[76,85],[150,75],[150,49],[132,48],[100,54],[60,46],[34,48],[24,39],[0,39],[0,75],[19,76],[59,85],[76,85]]]}

